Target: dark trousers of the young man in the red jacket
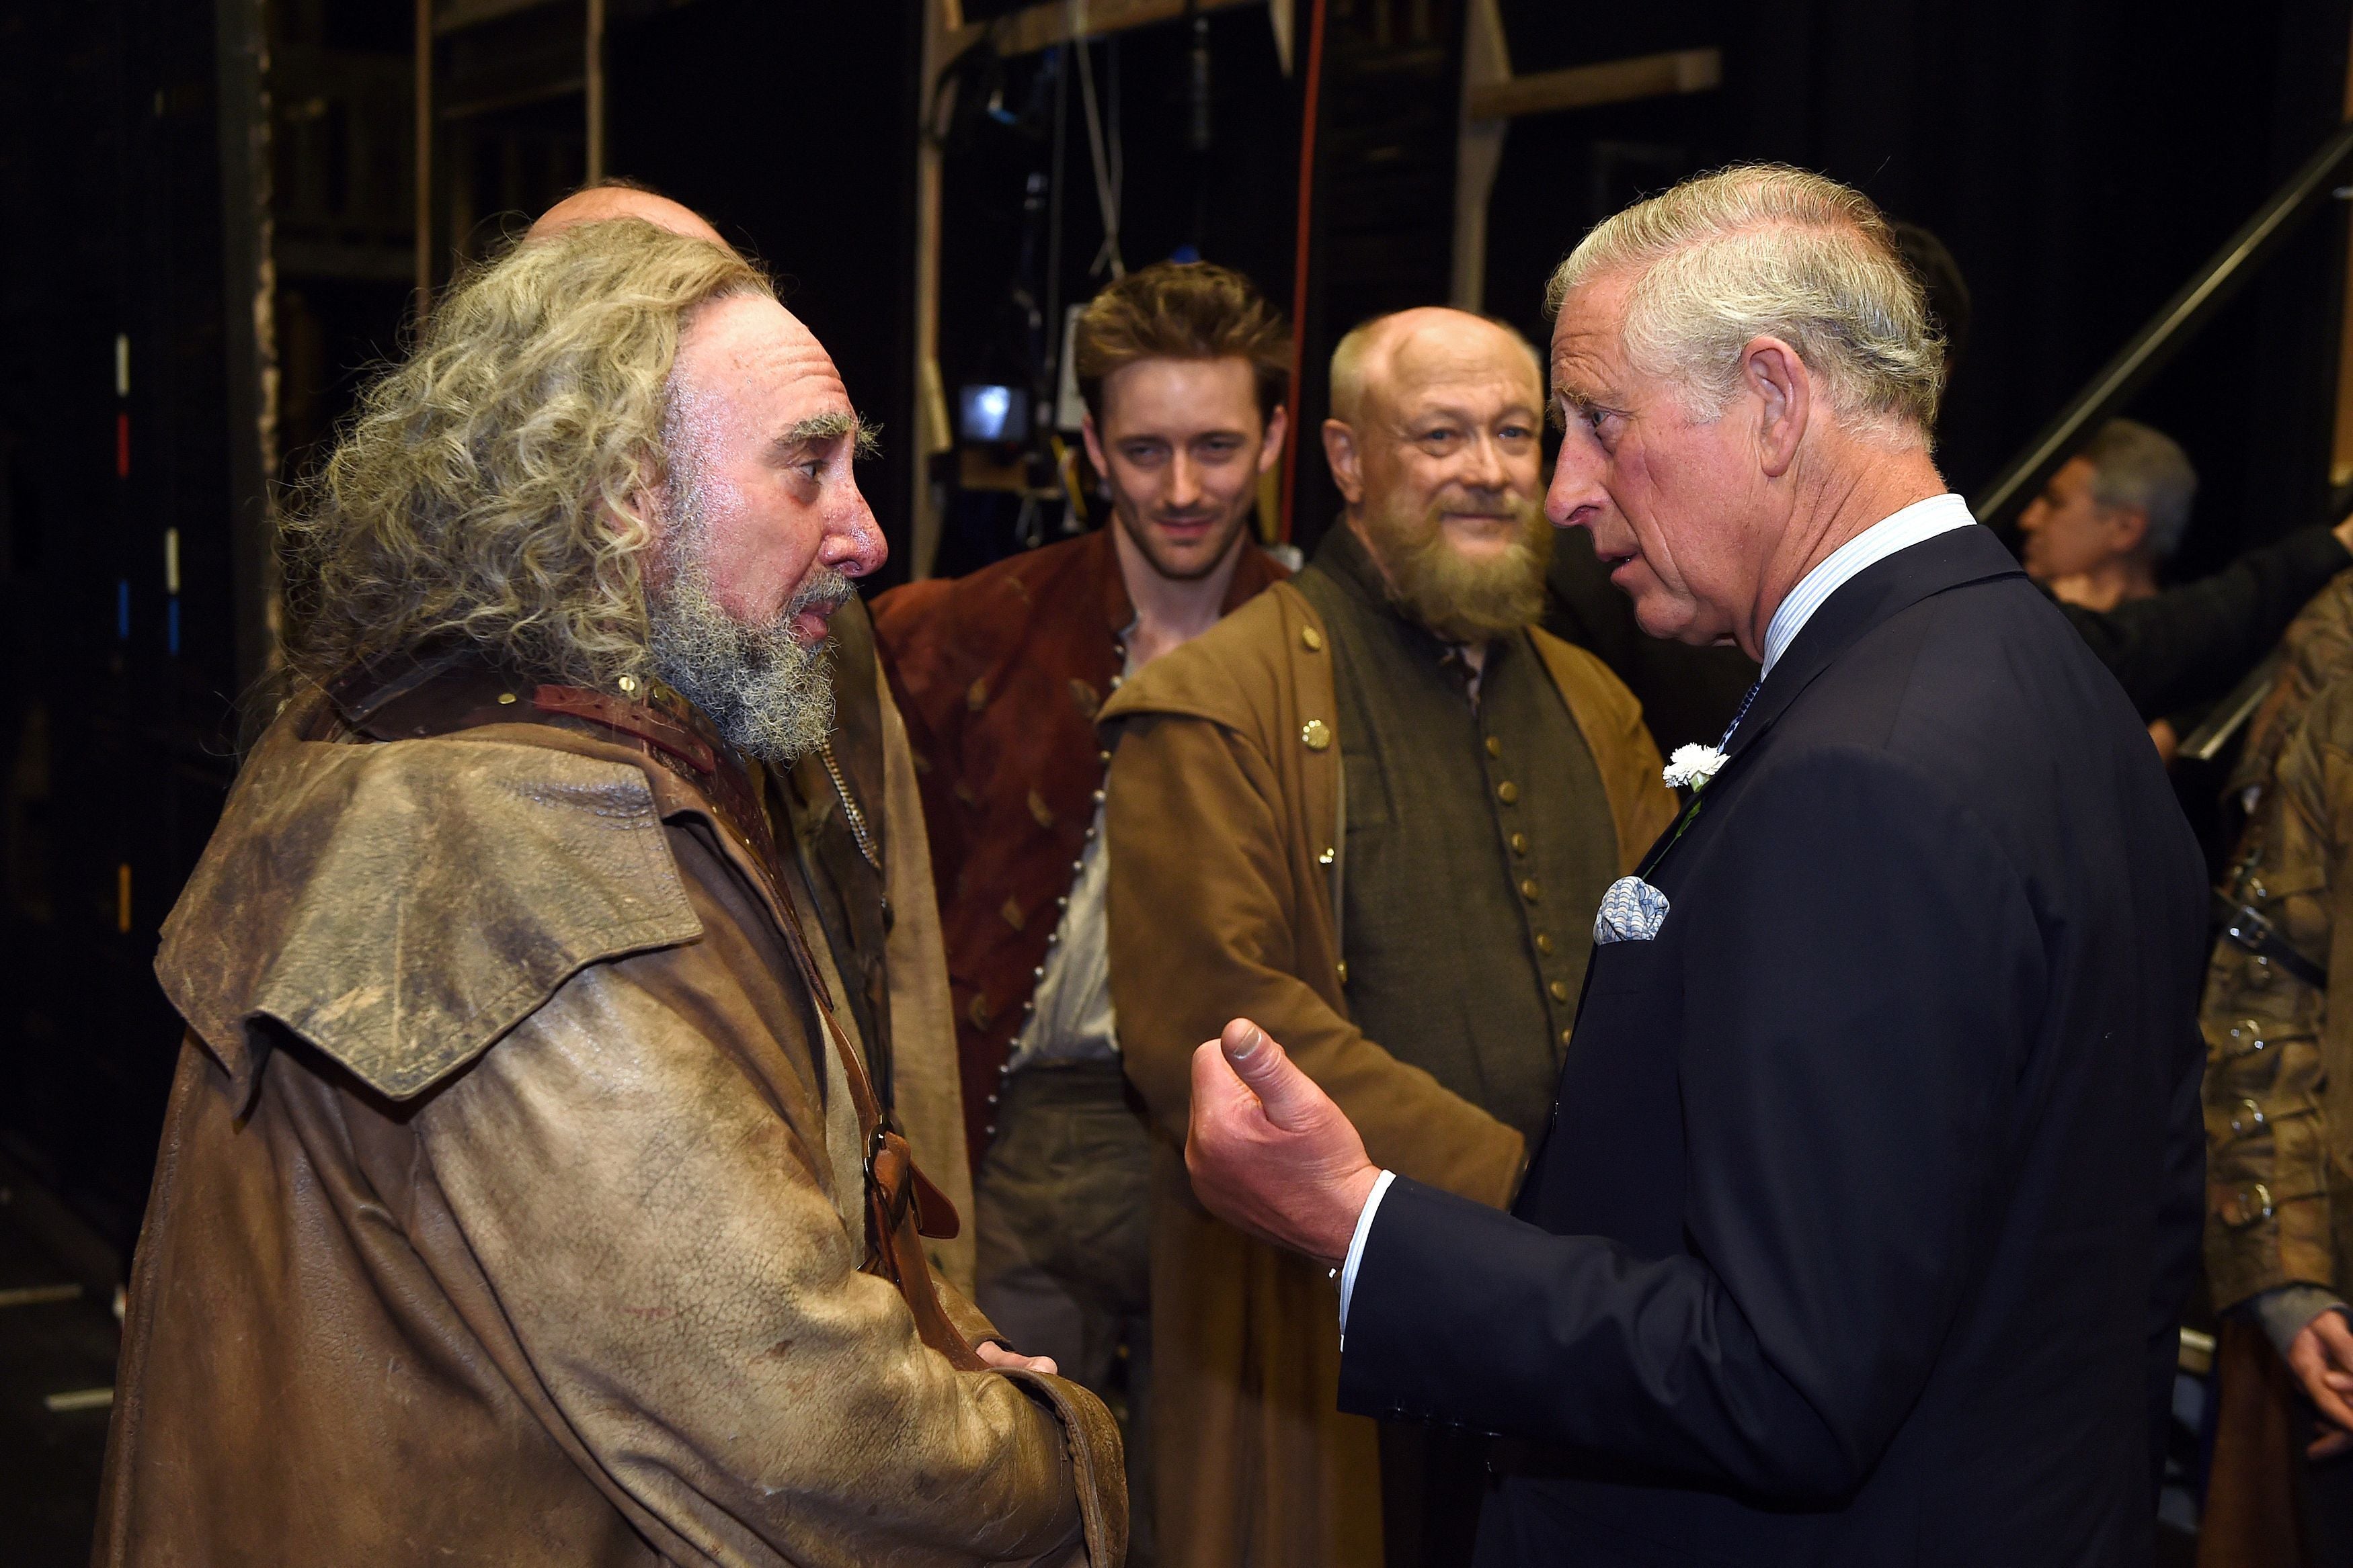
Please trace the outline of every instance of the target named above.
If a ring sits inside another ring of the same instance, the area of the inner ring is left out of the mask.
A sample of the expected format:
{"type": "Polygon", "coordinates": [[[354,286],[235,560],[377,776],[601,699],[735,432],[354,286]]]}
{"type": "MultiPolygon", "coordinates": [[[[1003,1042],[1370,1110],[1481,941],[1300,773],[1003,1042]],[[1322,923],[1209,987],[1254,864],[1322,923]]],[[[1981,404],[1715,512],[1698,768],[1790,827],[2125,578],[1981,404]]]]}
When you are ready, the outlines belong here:
{"type": "Polygon", "coordinates": [[[979,1307],[1118,1418],[1132,1568],[1153,1563],[1148,1187],[1151,1143],[1118,1063],[1005,1079],[974,1182],[979,1307]]]}

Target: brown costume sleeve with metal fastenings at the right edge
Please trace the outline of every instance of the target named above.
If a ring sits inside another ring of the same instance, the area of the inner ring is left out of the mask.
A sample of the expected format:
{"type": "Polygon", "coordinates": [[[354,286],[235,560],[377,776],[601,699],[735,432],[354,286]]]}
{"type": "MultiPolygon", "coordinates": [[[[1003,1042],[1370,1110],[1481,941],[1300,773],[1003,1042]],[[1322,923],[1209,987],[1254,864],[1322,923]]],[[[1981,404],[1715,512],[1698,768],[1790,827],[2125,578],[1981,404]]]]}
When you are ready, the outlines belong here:
{"type": "MultiPolygon", "coordinates": [[[[2257,820],[2242,903],[2304,957],[2327,964],[2341,889],[2332,886],[2346,759],[2329,733],[2353,719],[2353,684],[2327,686],[2280,750],[2257,820]]],[[[2334,1281],[2329,1246],[2327,992],[2231,938],[2207,966],[2207,1272],[2214,1305],[2285,1284],[2334,1281]]]]}

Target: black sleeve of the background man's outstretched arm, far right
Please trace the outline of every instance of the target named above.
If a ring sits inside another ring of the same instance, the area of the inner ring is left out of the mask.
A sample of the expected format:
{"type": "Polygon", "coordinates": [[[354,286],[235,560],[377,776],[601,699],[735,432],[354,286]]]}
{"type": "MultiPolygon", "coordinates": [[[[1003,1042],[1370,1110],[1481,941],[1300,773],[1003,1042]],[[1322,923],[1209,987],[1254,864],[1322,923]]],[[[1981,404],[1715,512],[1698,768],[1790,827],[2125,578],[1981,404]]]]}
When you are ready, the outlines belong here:
{"type": "Polygon", "coordinates": [[[2111,611],[2059,604],[2144,719],[2224,696],[2353,555],[2325,527],[2111,611]]]}

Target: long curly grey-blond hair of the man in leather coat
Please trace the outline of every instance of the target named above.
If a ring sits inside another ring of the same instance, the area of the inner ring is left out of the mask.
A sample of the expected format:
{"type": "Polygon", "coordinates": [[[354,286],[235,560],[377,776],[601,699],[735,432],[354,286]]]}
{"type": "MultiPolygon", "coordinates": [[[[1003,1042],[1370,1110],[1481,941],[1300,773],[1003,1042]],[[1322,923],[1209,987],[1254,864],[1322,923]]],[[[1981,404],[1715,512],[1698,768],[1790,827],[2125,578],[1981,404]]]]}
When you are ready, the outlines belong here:
{"type": "Polygon", "coordinates": [[[774,299],[734,252],[635,219],[459,280],[289,508],[292,665],[459,637],[574,684],[640,672],[671,364],[694,308],[736,294],[774,299]]]}

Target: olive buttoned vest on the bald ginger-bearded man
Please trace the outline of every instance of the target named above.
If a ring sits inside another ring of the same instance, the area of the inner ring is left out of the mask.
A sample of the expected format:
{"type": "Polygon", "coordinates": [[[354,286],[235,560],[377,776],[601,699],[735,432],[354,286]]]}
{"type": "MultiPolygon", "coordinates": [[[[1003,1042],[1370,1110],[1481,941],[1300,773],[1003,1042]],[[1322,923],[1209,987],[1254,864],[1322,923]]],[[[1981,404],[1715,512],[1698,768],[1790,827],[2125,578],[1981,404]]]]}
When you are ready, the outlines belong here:
{"type": "Polygon", "coordinates": [[[1398,1060],[1539,1138],[1619,875],[1600,771],[1527,632],[1487,644],[1478,708],[1334,527],[1294,578],[1332,635],[1348,1011],[1398,1060]]]}

